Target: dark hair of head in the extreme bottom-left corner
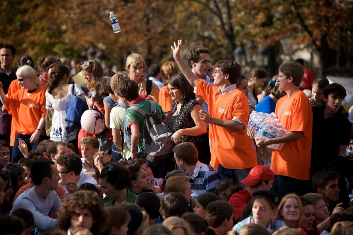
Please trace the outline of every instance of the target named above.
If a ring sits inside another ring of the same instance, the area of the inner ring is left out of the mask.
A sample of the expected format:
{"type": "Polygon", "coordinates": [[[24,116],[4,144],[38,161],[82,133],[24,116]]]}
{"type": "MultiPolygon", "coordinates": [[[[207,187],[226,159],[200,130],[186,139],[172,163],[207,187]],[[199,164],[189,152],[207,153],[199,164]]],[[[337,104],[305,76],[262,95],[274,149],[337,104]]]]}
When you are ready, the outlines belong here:
{"type": "Polygon", "coordinates": [[[1,234],[20,235],[25,230],[26,224],[23,222],[23,219],[17,216],[2,215],[0,216],[0,228],[1,234]]]}

